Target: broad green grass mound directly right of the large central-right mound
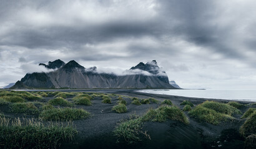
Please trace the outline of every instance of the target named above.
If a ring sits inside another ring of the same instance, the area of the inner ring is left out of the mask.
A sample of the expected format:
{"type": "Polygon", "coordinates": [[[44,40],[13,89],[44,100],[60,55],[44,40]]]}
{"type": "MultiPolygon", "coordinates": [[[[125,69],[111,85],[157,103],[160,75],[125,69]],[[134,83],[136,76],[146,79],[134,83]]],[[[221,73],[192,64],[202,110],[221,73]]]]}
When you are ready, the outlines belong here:
{"type": "Polygon", "coordinates": [[[221,114],[214,111],[213,109],[208,109],[202,105],[199,105],[195,107],[195,109],[192,109],[192,111],[189,112],[189,115],[202,122],[208,122],[214,125],[218,125],[223,120],[231,118],[230,115],[221,114]]]}

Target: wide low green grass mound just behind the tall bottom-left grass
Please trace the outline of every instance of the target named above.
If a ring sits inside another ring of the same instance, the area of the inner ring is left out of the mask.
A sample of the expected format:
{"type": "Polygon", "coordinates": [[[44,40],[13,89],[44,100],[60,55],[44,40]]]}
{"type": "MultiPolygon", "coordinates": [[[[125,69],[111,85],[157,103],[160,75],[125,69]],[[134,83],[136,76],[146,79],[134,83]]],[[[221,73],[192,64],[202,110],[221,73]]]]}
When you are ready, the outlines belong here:
{"type": "Polygon", "coordinates": [[[42,111],[39,117],[43,120],[76,120],[87,119],[91,114],[84,109],[54,108],[42,111]]]}

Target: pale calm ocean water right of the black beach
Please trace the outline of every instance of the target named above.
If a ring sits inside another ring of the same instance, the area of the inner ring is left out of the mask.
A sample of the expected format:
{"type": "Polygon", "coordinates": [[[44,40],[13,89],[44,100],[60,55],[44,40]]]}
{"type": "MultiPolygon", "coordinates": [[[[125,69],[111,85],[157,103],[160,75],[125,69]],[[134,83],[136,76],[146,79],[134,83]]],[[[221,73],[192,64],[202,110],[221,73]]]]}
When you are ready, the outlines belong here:
{"type": "Polygon", "coordinates": [[[256,102],[256,90],[214,90],[214,89],[143,89],[139,92],[167,94],[184,97],[227,99],[256,102]]]}

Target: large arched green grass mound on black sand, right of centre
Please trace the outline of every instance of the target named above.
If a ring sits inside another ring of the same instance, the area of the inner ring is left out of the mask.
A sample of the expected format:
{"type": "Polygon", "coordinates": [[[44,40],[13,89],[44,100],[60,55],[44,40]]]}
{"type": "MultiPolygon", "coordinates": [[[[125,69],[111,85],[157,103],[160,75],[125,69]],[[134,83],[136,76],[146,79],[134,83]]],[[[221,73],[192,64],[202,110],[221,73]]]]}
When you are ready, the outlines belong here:
{"type": "Polygon", "coordinates": [[[157,109],[150,109],[143,117],[144,121],[152,121],[152,122],[165,122],[167,119],[177,120],[184,124],[189,124],[189,119],[185,116],[184,112],[182,112],[176,106],[160,106],[157,109]]]}

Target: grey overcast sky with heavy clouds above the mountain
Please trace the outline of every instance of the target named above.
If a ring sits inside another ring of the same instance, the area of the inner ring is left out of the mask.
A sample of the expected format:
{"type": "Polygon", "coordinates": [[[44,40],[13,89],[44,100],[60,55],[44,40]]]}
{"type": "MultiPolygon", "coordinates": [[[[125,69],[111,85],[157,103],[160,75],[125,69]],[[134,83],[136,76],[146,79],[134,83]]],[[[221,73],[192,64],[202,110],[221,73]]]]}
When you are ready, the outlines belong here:
{"type": "Polygon", "coordinates": [[[156,60],[182,88],[256,88],[256,1],[0,0],[0,87],[39,63],[127,70],[156,60]]]}

